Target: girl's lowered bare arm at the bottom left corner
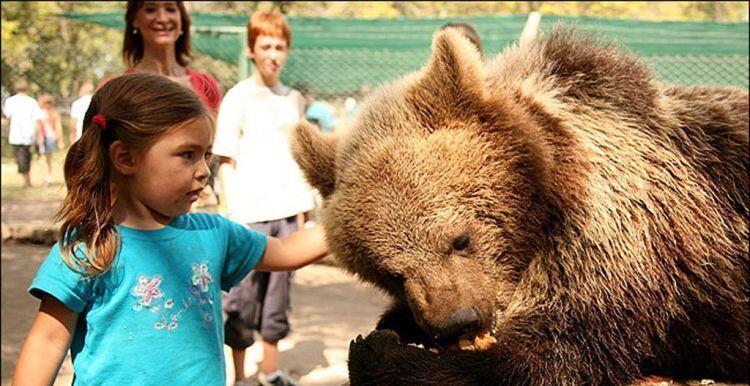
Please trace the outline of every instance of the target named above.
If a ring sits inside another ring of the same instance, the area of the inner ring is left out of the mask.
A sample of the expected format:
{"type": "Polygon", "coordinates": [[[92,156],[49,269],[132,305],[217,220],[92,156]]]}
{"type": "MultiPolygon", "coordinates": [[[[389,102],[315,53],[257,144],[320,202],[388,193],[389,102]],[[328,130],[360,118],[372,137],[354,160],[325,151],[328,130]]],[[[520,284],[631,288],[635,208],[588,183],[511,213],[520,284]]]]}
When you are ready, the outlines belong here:
{"type": "Polygon", "coordinates": [[[70,348],[78,314],[45,296],[18,357],[12,384],[51,385],[70,348]]]}

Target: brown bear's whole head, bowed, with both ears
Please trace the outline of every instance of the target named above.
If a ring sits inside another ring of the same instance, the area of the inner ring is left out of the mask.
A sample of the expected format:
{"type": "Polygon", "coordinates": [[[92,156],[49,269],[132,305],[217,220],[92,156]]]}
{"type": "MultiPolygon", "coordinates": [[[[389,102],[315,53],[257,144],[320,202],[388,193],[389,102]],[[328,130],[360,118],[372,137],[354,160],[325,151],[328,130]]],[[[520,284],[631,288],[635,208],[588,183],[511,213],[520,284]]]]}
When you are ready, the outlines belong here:
{"type": "Polygon", "coordinates": [[[447,343],[493,327],[549,221],[538,128],[483,71],[439,32],[426,67],[375,91],[344,134],[303,122],[292,138],[331,251],[447,343]]]}

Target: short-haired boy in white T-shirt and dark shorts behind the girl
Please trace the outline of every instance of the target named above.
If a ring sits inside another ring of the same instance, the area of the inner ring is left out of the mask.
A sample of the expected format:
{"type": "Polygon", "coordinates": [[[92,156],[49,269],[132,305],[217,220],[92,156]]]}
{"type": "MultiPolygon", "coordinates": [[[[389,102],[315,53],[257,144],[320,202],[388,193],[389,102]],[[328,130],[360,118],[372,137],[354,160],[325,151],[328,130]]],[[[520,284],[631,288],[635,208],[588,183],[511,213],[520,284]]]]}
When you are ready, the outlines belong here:
{"type": "MultiPolygon", "coordinates": [[[[256,12],[248,28],[252,75],[224,96],[219,108],[214,154],[230,219],[271,236],[303,228],[314,208],[313,194],[292,158],[289,135],[304,118],[302,94],[281,83],[292,41],[281,13],[256,12]]],[[[232,348],[235,385],[247,385],[245,350],[258,331],[262,385],[295,385],[280,370],[278,342],[289,333],[291,273],[252,272],[227,297],[226,343],[232,348]]]]}

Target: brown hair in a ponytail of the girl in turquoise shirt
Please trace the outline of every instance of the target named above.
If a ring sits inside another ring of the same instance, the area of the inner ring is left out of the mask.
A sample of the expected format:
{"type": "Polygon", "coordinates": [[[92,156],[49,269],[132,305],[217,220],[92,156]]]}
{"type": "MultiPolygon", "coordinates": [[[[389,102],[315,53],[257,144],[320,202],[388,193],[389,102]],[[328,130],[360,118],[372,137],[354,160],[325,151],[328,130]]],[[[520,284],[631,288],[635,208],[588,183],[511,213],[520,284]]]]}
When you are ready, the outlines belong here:
{"type": "Polygon", "coordinates": [[[68,266],[98,275],[109,270],[117,254],[109,146],[122,141],[140,154],[170,128],[201,117],[211,121],[195,93],[160,75],[122,75],[94,94],[83,118],[83,134],[65,158],[68,193],[57,218],[62,222],[60,252],[68,266]],[[92,122],[96,115],[104,118],[106,127],[92,122]],[[76,252],[80,243],[83,254],[76,252]]]}

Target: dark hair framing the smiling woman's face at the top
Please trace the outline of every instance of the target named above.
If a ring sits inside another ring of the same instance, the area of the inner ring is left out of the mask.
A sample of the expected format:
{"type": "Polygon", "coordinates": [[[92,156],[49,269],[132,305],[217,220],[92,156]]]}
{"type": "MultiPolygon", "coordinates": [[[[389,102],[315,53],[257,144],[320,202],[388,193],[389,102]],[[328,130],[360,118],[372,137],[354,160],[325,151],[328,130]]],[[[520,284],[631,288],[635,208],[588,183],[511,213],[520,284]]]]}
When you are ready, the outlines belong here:
{"type": "MultiPolygon", "coordinates": [[[[141,7],[143,1],[128,0],[127,9],[125,10],[125,38],[122,42],[122,58],[128,67],[133,67],[143,59],[143,36],[140,33],[133,33],[133,21],[135,14],[141,7]]],[[[182,1],[176,1],[177,8],[180,10],[180,20],[182,21],[182,35],[177,38],[174,44],[174,55],[180,66],[187,66],[192,56],[190,55],[190,15],[185,9],[182,1]]]]}

